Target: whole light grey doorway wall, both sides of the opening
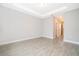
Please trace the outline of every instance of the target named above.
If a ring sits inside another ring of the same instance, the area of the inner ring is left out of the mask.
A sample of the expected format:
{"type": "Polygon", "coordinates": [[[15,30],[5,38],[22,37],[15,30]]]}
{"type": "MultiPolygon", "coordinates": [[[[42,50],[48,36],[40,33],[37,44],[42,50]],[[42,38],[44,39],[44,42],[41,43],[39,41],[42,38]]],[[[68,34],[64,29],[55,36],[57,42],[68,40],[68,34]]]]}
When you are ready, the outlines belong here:
{"type": "MultiPolygon", "coordinates": [[[[64,40],[79,42],[79,9],[61,15],[64,17],[64,40]]],[[[53,17],[44,19],[43,36],[53,38],[53,17]]]]}

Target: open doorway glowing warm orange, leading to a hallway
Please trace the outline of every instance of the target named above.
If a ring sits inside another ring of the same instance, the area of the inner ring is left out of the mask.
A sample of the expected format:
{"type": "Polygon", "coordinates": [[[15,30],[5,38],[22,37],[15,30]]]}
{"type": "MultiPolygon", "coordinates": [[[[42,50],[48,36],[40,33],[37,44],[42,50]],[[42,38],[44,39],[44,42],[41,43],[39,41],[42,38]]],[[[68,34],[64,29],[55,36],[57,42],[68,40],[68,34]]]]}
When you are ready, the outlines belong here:
{"type": "Polygon", "coordinates": [[[63,41],[64,38],[64,18],[63,16],[54,17],[54,39],[63,41]]]}

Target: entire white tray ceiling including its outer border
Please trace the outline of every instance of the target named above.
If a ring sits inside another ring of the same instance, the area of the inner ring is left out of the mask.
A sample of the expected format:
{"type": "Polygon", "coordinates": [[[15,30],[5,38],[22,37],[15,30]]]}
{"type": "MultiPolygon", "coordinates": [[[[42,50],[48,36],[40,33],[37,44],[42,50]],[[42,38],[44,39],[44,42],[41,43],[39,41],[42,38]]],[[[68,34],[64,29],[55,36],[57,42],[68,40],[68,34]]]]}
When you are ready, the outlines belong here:
{"type": "Polygon", "coordinates": [[[77,3],[6,3],[2,5],[27,12],[40,18],[79,8],[79,4],[77,3]]]}

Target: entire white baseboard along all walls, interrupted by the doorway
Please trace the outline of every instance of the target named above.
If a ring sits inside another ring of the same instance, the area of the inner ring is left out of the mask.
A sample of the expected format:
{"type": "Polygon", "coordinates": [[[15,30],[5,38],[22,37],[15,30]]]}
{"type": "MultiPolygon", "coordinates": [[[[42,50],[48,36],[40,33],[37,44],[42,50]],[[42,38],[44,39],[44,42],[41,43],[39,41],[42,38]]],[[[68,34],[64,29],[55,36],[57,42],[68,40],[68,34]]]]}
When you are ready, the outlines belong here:
{"type": "MultiPolygon", "coordinates": [[[[17,40],[13,40],[13,41],[5,41],[5,42],[0,42],[0,45],[10,44],[10,43],[20,42],[20,41],[24,41],[24,40],[30,40],[30,39],[40,38],[40,37],[41,36],[30,37],[30,38],[23,38],[23,39],[17,39],[17,40]]],[[[49,37],[49,36],[42,36],[42,37],[53,39],[53,37],[49,37]]],[[[69,43],[72,43],[72,44],[79,45],[79,42],[75,42],[75,41],[64,40],[64,42],[69,42],[69,43]]]]}

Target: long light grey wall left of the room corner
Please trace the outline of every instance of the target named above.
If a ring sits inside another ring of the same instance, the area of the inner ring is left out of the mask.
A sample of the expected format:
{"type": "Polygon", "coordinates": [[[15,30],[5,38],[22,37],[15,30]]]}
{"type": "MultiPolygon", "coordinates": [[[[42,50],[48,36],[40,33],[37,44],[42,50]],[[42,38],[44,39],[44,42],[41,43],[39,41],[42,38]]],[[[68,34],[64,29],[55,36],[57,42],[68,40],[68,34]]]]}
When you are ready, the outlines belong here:
{"type": "Polygon", "coordinates": [[[39,18],[0,6],[0,44],[40,37],[41,28],[42,21],[39,18]]]}

